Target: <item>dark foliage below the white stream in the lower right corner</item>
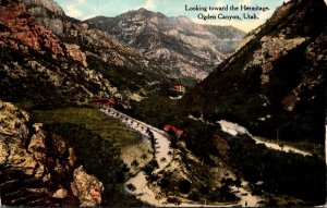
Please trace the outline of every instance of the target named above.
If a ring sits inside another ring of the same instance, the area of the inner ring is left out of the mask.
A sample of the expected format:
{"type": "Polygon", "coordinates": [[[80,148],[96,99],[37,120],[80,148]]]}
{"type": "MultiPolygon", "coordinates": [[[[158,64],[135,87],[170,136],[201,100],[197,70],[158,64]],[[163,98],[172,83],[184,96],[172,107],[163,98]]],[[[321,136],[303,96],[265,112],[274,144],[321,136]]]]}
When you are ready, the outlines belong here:
{"type": "MultiPolygon", "coordinates": [[[[301,156],[255,145],[245,137],[230,137],[230,160],[253,189],[293,196],[307,205],[326,203],[326,164],[316,156],[301,156]],[[257,182],[264,182],[256,185],[257,182]]],[[[263,193],[262,193],[263,194],[263,193]]]]}

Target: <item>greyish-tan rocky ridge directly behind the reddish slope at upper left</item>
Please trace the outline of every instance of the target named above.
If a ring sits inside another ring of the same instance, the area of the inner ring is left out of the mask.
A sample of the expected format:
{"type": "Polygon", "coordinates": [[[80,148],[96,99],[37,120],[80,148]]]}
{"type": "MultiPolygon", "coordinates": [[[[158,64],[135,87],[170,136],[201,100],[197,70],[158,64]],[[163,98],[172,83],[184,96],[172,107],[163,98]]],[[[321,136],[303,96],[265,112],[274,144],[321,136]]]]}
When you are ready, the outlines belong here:
{"type": "Polygon", "coordinates": [[[107,32],[89,28],[85,23],[66,16],[52,0],[23,0],[36,21],[50,27],[59,38],[77,45],[86,54],[88,68],[100,72],[117,90],[117,98],[141,100],[169,86],[162,74],[149,66],[138,50],[117,40],[107,32]]]}

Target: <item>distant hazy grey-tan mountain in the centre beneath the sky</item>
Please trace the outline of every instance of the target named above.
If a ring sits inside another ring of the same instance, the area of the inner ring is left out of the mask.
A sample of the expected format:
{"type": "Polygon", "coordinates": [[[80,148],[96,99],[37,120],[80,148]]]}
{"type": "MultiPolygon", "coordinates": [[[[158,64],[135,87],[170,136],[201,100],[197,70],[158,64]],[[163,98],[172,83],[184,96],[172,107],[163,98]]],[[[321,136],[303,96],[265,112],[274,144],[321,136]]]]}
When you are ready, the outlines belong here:
{"type": "Polygon", "coordinates": [[[167,17],[143,8],[85,23],[140,49],[150,66],[184,82],[205,78],[245,35],[231,26],[195,24],[185,16],[167,17]]]}

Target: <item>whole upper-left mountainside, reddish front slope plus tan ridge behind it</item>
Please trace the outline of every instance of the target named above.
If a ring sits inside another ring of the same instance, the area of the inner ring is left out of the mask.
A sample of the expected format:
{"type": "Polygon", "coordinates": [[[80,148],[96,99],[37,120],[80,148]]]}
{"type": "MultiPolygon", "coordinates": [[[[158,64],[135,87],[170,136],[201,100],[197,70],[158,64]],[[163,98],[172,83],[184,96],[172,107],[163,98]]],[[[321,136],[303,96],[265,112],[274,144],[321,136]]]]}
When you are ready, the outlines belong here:
{"type": "Polygon", "coordinates": [[[1,1],[0,11],[3,100],[49,107],[101,94],[128,106],[167,83],[140,51],[66,16],[51,0],[1,1]]]}

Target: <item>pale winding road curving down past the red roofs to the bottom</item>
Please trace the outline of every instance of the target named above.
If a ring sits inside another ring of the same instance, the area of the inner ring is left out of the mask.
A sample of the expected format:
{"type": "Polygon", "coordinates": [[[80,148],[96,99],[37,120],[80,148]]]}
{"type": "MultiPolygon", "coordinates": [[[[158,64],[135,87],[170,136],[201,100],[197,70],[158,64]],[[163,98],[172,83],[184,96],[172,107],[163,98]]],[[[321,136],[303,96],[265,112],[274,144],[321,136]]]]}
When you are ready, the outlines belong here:
{"type": "MultiPolygon", "coordinates": [[[[100,111],[106,113],[108,117],[119,119],[123,124],[128,125],[129,127],[133,129],[134,131],[137,131],[144,136],[148,136],[148,130],[153,132],[155,137],[155,159],[157,160],[159,168],[154,171],[154,173],[158,173],[161,170],[164,170],[172,160],[171,151],[170,149],[170,142],[168,139],[168,136],[166,132],[158,130],[149,124],[146,124],[142,121],[135,120],[120,111],[117,111],[113,108],[109,107],[101,107],[100,111]],[[165,158],[165,159],[162,159],[165,158]]],[[[126,191],[133,195],[136,195],[142,201],[145,201],[152,206],[169,206],[169,207],[233,207],[233,206],[250,206],[255,207],[258,206],[258,201],[261,200],[259,197],[253,196],[251,192],[245,189],[244,187],[231,187],[235,194],[241,198],[239,203],[234,204],[198,204],[193,201],[182,201],[179,205],[174,204],[167,204],[167,198],[165,196],[160,196],[160,188],[157,185],[149,184],[146,179],[146,174],[143,171],[140,171],[135,176],[131,178],[126,183],[133,184],[135,189],[129,189],[126,191]],[[152,185],[152,186],[149,186],[152,185]],[[156,192],[155,192],[155,191],[156,192]]]]}

